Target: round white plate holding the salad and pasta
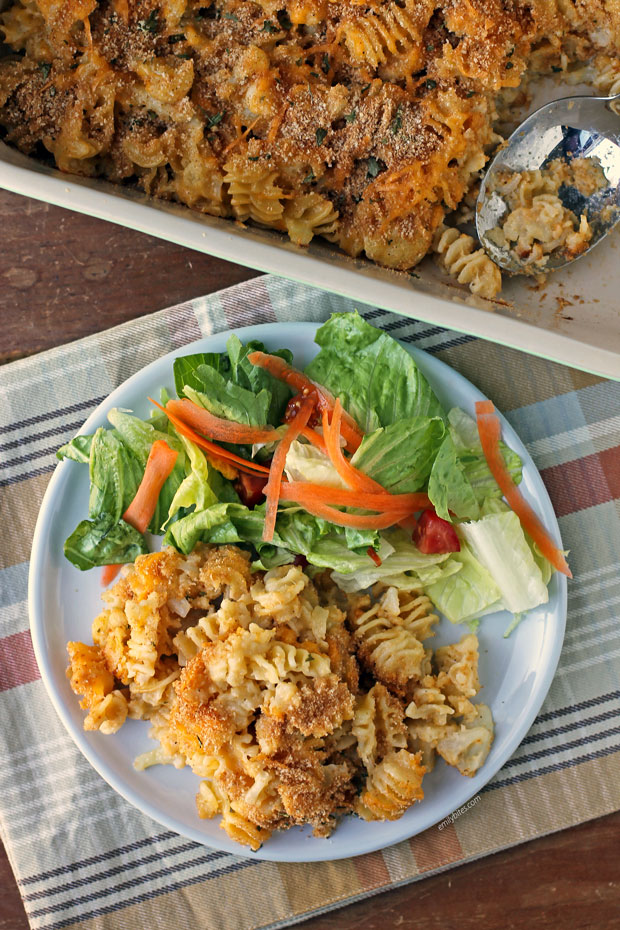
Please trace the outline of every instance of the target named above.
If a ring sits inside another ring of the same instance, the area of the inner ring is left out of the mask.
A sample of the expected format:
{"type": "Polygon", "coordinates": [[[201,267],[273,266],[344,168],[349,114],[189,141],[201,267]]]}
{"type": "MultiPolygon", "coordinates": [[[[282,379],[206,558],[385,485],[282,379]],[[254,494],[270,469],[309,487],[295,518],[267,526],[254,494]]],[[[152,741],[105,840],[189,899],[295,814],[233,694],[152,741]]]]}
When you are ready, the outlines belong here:
{"type": "MultiPolygon", "coordinates": [[[[237,330],[245,342],[260,339],[268,348],[286,346],[298,365],[316,354],[312,323],[273,323],[237,330]]],[[[148,365],[119,388],[88,418],[83,432],[106,423],[111,407],[149,411],[147,396],[158,396],[162,386],[174,387],[172,361],[191,352],[221,352],[229,333],[201,339],[148,365]]],[[[483,395],[443,362],[406,346],[427,376],[444,407],[474,412],[483,395]]],[[[525,447],[504,421],[504,437],[524,461],[522,489],[545,526],[560,541],[557,520],[543,482],[525,447]]],[[[219,827],[200,820],[194,796],[199,779],[189,769],[156,766],[136,772],[134,757],[153,748],[148,723],[128,720],[114,736],[86,733],[84,712],[72,693],[65,668],[68,640],[91,642],[91,622],[101,607],[98,571],[79,572],[63,556],[63,542],[84,518],[88,501],[88,470],[73,462],[58,465],[43,500],[30,562],[30,622],[35,654],[43,681],[71,737],[100,775],[131,804],[170,830],[216,849],[243,854],[219,827]]],[[[566,579],[554,575],[549,603],[533,610],[507,640],[510,616],[492,614],[480,624],[481,700],[488,703],[496,723],[496,737],[483,768],[465,778],[439,762],[424,779],[425,798],[393,823],[366,823],[347,817],[328,840],[316,839],[307,828],[276,833],[254,857],[284,862],[338,859],[371,852],[413,836],[438,823],[476,795],[519,745],[532,724],[551,684],[560,655],[566,621],[566,579]]],[[[442,620],[434,645],[458,640],[466,628],[442,620]]]]}

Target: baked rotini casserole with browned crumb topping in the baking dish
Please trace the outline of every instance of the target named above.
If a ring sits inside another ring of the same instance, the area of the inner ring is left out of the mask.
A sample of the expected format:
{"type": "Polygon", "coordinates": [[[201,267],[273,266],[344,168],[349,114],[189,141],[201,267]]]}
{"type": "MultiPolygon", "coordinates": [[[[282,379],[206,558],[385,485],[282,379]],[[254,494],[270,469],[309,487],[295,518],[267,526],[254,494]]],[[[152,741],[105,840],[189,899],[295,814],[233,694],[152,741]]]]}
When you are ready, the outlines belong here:
{"type": "Polygon", "coordinates": [[[26,154],[388,268],[433,253],[484,298],[501,273],[461,224],[498,129],[540,75],[620,81],[606,0],[15,0],[1,23],[26,154]]]}

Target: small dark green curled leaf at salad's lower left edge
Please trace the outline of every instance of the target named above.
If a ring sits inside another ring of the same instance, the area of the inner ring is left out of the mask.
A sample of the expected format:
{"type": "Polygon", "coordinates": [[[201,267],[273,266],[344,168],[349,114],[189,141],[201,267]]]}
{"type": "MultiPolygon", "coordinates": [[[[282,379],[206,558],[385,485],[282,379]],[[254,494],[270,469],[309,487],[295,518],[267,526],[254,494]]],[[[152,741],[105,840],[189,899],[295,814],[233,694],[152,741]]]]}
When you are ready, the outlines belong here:
{"type": "Polygon", "coordinates": [[[82,520],[64,545],[65,556],[85,571],[98,565],[134,562],[148,552],[144,537],[124,520],[102,513],[94,520],[82,520]]]}

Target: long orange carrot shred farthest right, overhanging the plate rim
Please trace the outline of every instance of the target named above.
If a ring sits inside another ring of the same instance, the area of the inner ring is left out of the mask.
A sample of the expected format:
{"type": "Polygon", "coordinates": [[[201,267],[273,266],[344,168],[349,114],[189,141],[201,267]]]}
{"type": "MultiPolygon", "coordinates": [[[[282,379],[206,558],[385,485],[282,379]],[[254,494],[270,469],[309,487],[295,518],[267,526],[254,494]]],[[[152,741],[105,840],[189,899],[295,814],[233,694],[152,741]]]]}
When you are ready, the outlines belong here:
{"type": "Polygon", "coordinates": [[[478,422],[478,435],[480,436],[484,457],[508,505],[516,513],[521,521],[521,526],[534,540],[544,557],[548,559],[559,572],[572,578],[573,575],[564,558],[564,554],[555,545],[551,536],[517,488],[512,480],[510,472],[506,468],[499,445],[501,424],[492,402],[488,400],[478,401],[476,403],[476,417],[478,422]]]}

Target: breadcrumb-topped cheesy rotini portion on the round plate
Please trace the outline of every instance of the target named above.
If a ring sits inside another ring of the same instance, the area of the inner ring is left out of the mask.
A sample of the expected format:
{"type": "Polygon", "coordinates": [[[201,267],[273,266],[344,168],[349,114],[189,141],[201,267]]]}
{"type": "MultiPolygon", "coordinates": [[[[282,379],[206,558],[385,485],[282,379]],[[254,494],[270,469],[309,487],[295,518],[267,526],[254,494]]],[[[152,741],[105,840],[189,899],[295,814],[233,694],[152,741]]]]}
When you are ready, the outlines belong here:
{"type": "Polygon", "coordinates": [[[435,755],[466,775],[486,758],[477,640],[433,660],[437,617],[415,591],[376,585],[371,602],[327,573],[251,575],[241,550],[199,545],[140,556],[103,598],[95,645],[68,646],[84,726],[148,720],[156,746],[136,768],[189,766],[198,815],[251,849],[295,824],[327,836],[344,813],[396,819],[435,755]]]}

